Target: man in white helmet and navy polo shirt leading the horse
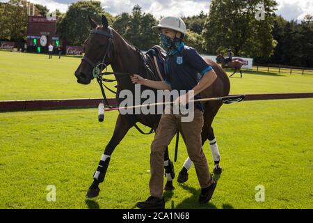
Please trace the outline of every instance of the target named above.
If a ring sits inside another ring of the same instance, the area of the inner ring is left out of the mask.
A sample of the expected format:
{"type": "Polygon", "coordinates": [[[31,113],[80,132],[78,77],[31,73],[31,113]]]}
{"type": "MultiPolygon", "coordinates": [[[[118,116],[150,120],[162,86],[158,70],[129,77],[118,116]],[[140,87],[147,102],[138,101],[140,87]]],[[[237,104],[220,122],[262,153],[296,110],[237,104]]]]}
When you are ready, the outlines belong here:
{"type": "MultiPolygon", "coordinates": [[[[166,80],[152,81],[140,75],[131,77],[134,84],[143,84],[153,89],[188,91],[179,95],[175,103],[188,104],[199,99],[200,93],[214,83],[217,76],[209,64],[195,49],[184,45],[186,25],[179,17],[163,17],[159,25],[152,27],[160,34],[161,46],[166,49],[166,80]],[[200,80],[198,75],[200,74],[200,80]],[[193,93],[191,93],[193,91],[193,93]],[[193,97],[193,95],[195,95],[193,97]]],[[[207,203],[214,193],[217,181],[211,176],[207,159],[202,150],[202,127],[204,124],[203,107],[200,102],[194,105],[194,118],[190,122],[182,121],[182,114],[162,114],[157,132],[151,144],[150,153],[150,197],[136,203],[138,208],[164,208],[163,198],[163,157],[166,147],[175,136],[177,128],[182,133],[188,155],[195,164],[195,171],[201,187],[200,203],[207,203]]]]}

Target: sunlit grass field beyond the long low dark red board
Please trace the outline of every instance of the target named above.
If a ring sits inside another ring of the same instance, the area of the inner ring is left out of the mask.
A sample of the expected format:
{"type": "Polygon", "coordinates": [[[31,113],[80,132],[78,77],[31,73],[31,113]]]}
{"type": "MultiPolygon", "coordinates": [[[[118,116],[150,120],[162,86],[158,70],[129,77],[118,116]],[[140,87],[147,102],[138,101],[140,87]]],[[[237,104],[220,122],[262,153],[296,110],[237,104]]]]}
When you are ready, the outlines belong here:
{"type": "MultiPolygon", "coordinates": [[[[44,54],[0,51],[0,100],[101,98],[97,82],[77,83],[74,71],[80,61],[70,56],[49,60],[44,54]]],[[[243,71],[243,78],[238,77],[230,78],[231,94],[313,92],[313,75],[243,71]]],[[[110,92],[107,95],[114,97],[110,92]]]]}

